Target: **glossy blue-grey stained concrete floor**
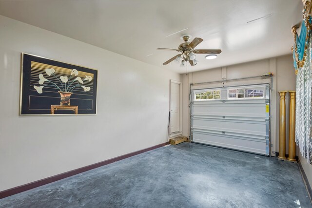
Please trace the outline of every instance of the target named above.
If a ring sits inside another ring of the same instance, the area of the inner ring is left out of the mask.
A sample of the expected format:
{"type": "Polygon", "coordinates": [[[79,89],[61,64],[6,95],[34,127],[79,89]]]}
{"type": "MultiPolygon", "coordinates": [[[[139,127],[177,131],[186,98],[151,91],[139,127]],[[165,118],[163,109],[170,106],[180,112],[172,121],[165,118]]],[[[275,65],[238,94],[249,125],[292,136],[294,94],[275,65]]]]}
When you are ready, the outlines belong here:
{"type": "Polygon", "coordinates": [[[184,142],[1,199],[0,208],[7,207],[312,208],[312,204],[296,163],[184,142]]]}

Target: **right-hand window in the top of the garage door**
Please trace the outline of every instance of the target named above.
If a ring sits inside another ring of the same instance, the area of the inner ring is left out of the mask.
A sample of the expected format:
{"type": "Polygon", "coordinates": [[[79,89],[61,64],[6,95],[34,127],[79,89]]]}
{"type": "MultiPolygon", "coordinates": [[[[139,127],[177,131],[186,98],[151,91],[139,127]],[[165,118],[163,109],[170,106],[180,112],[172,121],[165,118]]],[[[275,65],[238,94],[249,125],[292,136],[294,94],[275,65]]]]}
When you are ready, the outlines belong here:
{"type": "Polygon", "coordinates": [[[263,98],[264,87],[232,88],[228,90],[229,99],[263,98]]]}

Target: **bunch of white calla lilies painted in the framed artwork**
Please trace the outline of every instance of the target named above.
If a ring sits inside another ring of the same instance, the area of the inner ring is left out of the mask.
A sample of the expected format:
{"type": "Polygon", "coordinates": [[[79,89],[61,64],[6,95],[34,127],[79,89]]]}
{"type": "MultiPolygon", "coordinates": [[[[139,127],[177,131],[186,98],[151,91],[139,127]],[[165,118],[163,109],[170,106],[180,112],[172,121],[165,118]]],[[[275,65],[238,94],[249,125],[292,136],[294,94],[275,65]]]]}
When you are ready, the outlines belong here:
{"type": "MultiPolygon", "coordinates": [[[[51,78],[47,79],[46,77],[43,76],[43,74],[39,74],[38,83],[41,86],[34,85],[34,89],[39,94],[42,94],[43,92],[42,89],[46,86],[54,87],[59,92],[66,92],[66,93],[72,93],[73,90],[77,87],[82,87],[84,92],[91,90],[91,87],[83,86],[82,84],[86,85],[84,81],[90,82],[92,80],[92,76],[86,75],[86,77],[82,80],[82,78],[78,76],[79,72],[77,69],[71,69],[69,77],[68,76],[56,76],[55,74],[56,70],[53,68],[46,68],[45,73],[47,76],[50,76],[51,78]]],[[[58,74],[61,74],[61,73],[58,73],[58,74]]]]}

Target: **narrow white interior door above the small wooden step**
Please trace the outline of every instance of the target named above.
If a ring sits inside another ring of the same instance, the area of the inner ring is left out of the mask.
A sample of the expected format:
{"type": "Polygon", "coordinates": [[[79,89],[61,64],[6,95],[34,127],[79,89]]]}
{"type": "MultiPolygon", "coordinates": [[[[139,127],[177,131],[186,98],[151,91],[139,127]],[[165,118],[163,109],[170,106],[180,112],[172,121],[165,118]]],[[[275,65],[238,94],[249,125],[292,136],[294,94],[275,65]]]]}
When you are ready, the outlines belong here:
{"type": "Polygon", "coordinates": [[[170,134],[180,132],[180,84],[170,82],[170,134]]]}

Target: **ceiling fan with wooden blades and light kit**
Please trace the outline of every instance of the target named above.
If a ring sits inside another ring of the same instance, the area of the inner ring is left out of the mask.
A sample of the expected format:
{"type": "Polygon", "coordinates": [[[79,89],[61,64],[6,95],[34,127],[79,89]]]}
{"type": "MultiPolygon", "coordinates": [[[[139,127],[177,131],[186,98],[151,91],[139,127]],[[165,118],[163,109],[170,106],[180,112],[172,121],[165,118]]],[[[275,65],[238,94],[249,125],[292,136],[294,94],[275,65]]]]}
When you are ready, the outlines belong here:
{"type": "Polygon", "coordinates": [[[188,42],[188,40],[191,38],[190,35],[183,35],[181,36],[181,39],[184,40],[184,43],[181,43],[178,47],[178,49],[171,49],[171,48],[157,48],[157,50],[166,50],[166,51],[178,51],[181,54],[178,54],[166,62],[163,63],[163,65],[166,65],[170,63],[171,61],[175,60],[177,63],[179,63],[181,60],[181,66],[185,66],[185,64],[189,61],[192,66],[195,66],[198,63],[198,60],[196,59],[195,54],[208,54],[206,56],[207,59],[210,59],[209,57],[216,57],[216,54],[220,54],[220,49],[194,49],[199,43],[203,41],[202,38],[194,38],[192,42],[188,42]]]}

